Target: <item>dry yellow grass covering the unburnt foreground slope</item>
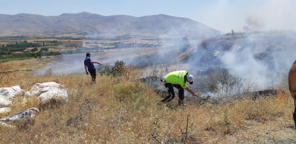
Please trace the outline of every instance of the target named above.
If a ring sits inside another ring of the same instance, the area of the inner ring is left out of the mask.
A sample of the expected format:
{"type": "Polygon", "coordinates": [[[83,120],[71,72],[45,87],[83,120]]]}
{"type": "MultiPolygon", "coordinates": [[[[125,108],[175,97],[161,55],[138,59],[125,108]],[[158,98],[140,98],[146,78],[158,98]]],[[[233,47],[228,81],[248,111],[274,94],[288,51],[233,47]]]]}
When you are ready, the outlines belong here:
{"type": "Polygon", "coordinates": [[[91,78],[85,74],[17,75],[18,80],[1,87],[20,85],[29,90],[37,82],[55,81],[68,89],[69,101],[41,108],[38,97],[17,95],[10,113],[32,107],[41,111],[32,119],[9,123],[15,128],[0,126],[0,143],[157,143],[149,140],[156,119],[157,139],[170,142],[183,137],[188,114],[187,143],[296,141],[289,92],[281,98],[244,98],[184,108],[177,107],[176,99],[157,105],[161,98],[152,89],[124,77],[111,79],[98,74],[97,83],[90,84],[91,78]]]}

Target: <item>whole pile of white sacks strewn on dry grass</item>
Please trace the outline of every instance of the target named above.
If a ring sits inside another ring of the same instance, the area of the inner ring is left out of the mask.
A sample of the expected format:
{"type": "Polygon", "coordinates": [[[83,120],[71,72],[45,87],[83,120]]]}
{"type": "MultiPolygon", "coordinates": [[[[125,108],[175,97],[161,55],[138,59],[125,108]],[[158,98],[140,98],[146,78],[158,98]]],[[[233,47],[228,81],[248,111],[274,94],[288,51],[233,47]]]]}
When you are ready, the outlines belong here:
{"type": "MultiPolygon", "coordinates": [[[[65,102],[68,101],[67,89],[63,85],[56,82],[36,83],[30,91],[25,92],[25,96],[39,96],[41,105],[51,100],[65,102]]],[[[10,111],[10,105],[15,97],[15,94],[23,92],[20,86],[2,87],[0,88],[0,113],[10,111]]],[[[0,124],[5,125],[2,121],[14,121],[20,118],[33,117],[39,112],[38,108],[30,108],[25,111],[14,113],[7,118],[0,119],[0,124]]]]}

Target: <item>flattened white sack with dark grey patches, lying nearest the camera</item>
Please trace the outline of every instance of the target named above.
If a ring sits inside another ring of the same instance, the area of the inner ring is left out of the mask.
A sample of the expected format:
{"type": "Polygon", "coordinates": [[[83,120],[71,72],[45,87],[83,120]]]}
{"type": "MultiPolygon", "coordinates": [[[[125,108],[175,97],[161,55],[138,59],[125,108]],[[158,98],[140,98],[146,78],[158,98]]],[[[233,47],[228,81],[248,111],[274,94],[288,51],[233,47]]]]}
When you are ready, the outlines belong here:
{"type": "Polygon", "coordinates": [[[12,114],[12,115],[8,116],[7,118],[0,119],[0,121],[15,121],[15,120],[21,119],[21,118],[34,117],[37,112],[39,112],[38,108],[30,108],[25,111],[21,111],[21,112],[12,114]]]}

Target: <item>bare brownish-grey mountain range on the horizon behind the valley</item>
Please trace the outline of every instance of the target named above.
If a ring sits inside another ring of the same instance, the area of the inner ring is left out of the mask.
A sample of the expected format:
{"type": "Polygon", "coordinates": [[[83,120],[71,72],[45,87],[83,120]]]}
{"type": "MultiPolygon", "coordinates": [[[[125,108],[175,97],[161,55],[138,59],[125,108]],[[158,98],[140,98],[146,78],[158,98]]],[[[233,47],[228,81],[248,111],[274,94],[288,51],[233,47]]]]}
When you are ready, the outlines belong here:
{"type": "Polygon", "coordinates": [[[0,14],[0,35],[59,35],[67,33],[96,33],[145,36],[213,36],[220,34],[207,25],[189,18],[169,15],[134,17],[129,15],[103,16],[89,12],[64,13],[58,16],[35,14],[0,14]]]}

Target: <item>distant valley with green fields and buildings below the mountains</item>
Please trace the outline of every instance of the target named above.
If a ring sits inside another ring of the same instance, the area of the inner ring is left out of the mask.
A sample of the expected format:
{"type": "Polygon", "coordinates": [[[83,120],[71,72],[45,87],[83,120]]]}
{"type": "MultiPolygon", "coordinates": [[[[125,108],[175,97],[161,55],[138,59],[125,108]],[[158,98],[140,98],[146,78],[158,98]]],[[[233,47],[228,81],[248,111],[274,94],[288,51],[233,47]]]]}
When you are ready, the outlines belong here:
{"type": "Polygon", "coordinates": [[[150,36],[116,36],[113,38],[74,37],[0,37],[0,62],[30,57],[103,52],[109,49],[149,48],[173,45],[176,39],[156,39],[150,36]]]}

